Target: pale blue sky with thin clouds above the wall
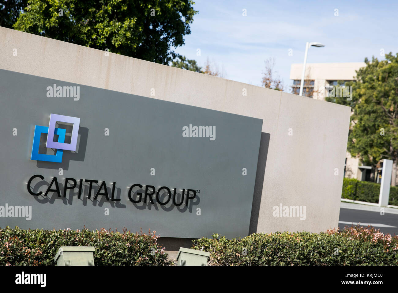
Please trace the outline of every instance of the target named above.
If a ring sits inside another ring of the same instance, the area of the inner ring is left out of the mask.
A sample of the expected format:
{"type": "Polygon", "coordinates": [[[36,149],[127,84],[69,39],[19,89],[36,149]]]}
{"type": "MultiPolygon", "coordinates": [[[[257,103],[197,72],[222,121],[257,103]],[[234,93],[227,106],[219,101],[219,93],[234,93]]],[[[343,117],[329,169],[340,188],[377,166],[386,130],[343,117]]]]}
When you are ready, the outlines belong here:
{"type": "Polygon", "coordinates": [[[199,13],[176,52],[201,66],[209,57],[224,68],[225,78],[252,85],[261,86],[264,61],[273,57],[290,91],[290,66],[303,62],[306,41],[326,45],[311,47],[308,63],[363,62],[373,55],[380,60],[380,49],[398,52],[398,1],[197,0],[193,7],[199,13]]]}

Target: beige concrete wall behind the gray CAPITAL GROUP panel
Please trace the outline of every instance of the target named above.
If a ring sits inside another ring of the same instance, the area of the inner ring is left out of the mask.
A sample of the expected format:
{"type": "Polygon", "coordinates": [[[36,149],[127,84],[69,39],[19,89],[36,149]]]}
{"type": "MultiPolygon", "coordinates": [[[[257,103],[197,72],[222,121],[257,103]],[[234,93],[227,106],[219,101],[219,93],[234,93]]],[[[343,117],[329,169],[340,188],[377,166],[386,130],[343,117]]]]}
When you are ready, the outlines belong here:
{"type": "Polygon", "coordinates": [[[269,147],[267,155],[260,154],[266,166],[259,206],[256,200],[254,206],[259,213],[256,230],[319,232],[338,226],[349,107],[122,55],[105,56],[12,29],[0,28],[0,40],[1,69],[263,119],[269,147]],[[306,206],[306,219],[274,217],[273,206],[280,203],[306,206]]]}

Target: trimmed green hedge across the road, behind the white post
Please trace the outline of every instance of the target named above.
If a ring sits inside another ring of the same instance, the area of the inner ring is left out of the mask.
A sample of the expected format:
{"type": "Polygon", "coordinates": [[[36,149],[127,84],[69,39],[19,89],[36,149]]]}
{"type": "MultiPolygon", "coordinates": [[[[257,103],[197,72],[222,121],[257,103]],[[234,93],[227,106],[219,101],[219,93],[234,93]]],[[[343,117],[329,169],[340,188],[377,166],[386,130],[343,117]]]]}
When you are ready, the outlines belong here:
{"type": "MultiPolygon", "coordinates": [[[[343,179],[343,190],[341,198],[352,199],[354,201],[365,201],[367,203],[378,203],[380,194],[380,184],[359,181],[357,179],[343,179]]],[[[398,205],[398,187],[390,187],[389,205],[398,205]]]]}

